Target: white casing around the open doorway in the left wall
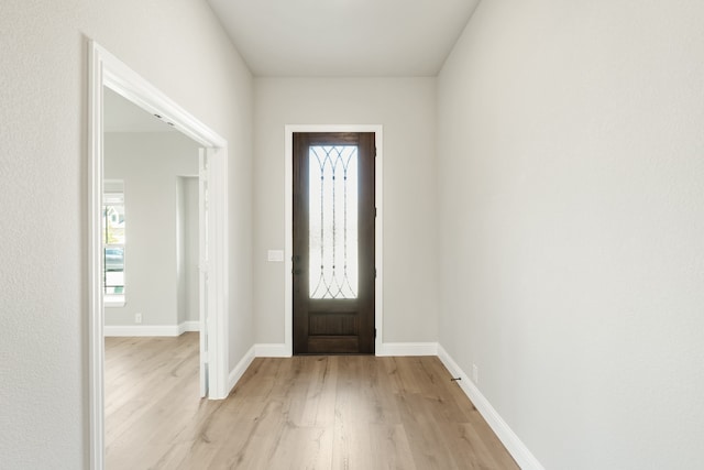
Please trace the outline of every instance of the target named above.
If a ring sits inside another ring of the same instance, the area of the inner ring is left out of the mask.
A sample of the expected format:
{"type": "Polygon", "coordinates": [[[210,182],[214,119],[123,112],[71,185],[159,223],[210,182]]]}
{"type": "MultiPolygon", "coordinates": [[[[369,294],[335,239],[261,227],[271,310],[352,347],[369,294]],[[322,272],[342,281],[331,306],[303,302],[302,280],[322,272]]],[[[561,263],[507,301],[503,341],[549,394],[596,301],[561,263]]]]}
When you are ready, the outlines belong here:
{"type": "MultiPolygon", "coordinates": [[[[103,87],[109,87],[206,147],[210,157],[208,186],[209,398],[228,394],[228,142],[188,113],[99,44],[89,44],[88,159],[88,369],[90,467],[105,466],[105,338],[102,300],[101,211],[103,178],[103,87]]],[[[196,397],[194,397],[196,398],[196,397]]]]}

